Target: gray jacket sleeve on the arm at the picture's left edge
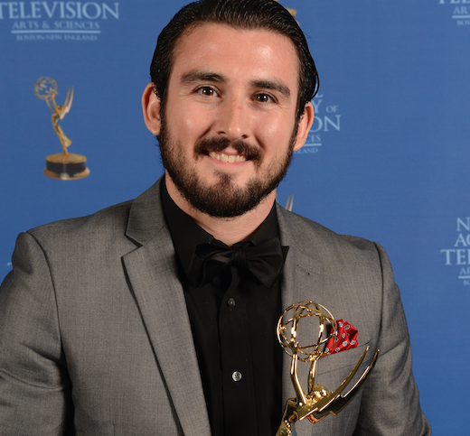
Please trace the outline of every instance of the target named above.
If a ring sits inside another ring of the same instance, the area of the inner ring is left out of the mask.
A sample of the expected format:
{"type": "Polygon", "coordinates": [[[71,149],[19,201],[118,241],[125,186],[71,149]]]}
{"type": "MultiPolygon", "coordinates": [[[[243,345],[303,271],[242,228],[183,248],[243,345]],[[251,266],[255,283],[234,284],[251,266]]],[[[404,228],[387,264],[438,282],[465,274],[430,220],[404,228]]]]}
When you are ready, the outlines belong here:
{"type": "Polygon", "coordinates": [[[71,383],[47,256],[31,234],[18,237],[13,266],[0,288],[0,429],[62,435],[71,383]]]}

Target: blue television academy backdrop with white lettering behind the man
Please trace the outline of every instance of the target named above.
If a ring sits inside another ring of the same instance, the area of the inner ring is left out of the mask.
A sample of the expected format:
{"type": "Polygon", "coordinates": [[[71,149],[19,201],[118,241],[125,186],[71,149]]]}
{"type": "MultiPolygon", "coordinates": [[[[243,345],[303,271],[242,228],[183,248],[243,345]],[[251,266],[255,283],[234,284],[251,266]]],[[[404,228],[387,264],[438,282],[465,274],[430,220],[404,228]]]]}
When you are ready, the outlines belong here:
{"type": "MultiPolygon", "coordinates": [[[[162,174],[140,97],[185,3],[0,2],[2,278],[19,232],[133,199],[162,174]],[[80,177],[54,178],[69,144],[80,177]]],[[[423,410],[434,434],[467,434],[470,0],[281,3],[321,85],[278,200],[385,247],[423,410]]]]}

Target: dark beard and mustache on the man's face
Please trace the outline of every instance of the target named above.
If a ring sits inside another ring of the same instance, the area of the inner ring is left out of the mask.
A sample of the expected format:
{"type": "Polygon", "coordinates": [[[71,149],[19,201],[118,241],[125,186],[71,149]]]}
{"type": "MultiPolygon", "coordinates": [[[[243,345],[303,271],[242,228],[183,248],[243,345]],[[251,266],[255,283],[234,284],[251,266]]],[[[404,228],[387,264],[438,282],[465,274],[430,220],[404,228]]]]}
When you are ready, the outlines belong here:
{"type": "MultiPolygon", "coordinates": [[[[178,153],[178,146],[172,141],[167,125],[162,119],[162,129],[157,137],[160,144],[160,153],[165,170],[168,172],[174,185],[195,209],[216,218],[233,218],[245,214],[258,206],[262,199],[277,188],[284,179],[292,160],[296,132],[290,138],[288,150],[282,162],[274,162],[264,177],[252,177],[245,188],[238,188],[233,183],[233,177],[225,172],[219,172],[219,182],[214,186],[205,185],[198,175],[185,166],[183,156],[178,153]]],[[[195,154],[208,154],[221,152],[232,146],[247,160],[253,161],[260,167],[264,151],[258,147],[246,144],[243,141],[230,143],[227,138],[208,138],[199,140],[195,146],[195,154]]]]}

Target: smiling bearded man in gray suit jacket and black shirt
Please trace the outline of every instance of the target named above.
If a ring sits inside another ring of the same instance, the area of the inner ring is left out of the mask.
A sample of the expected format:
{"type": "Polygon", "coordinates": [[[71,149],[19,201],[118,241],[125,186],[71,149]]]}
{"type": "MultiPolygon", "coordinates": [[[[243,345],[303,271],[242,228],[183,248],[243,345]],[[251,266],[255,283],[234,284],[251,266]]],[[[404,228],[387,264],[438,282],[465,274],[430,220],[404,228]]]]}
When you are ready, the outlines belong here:
{"type": "Polygon", "coordinates": [[[314,117],[295,20],[272,0],[188,5],[151,75],[143,111],[164,177],[18,238],[0,291],[2,434],[274,435],[294,394],[274,328],[305,300],[359,330],[358,348],[322,360],[322,385],[367,346],[381,356],[342,413],[297,434],[430,434],[381,247],[275,204],[314,117]]]}

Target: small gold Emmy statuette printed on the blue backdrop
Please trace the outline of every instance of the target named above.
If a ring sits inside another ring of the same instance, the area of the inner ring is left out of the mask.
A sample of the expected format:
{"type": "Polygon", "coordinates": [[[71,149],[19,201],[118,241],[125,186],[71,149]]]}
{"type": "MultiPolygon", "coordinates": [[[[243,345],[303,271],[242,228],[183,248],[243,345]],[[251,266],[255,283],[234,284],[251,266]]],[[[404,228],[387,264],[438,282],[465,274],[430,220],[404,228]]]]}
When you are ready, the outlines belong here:
{"type": "Polygon", "coordinates": [[[55,96],[58,93],[59,87],[54,79],[42,77],[34,83],[34,95],[44,100],[52,110],[52,127],[62,145],[62,153],[46,156],[44,174],[52,179],[59,179],[61,181],[83,179],[89,175],[87,158],[81,154],[73,154],[67,151],[71,140],[63,133],[61,125],[59,125],[59,121],[71,111],[73,87],[68,89],[63,105],[57,105],[55,102],[55,96]]]}

